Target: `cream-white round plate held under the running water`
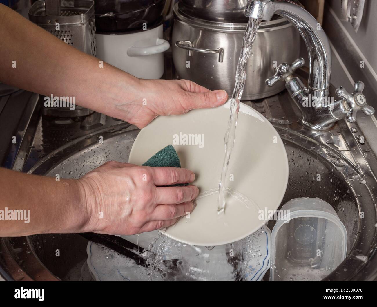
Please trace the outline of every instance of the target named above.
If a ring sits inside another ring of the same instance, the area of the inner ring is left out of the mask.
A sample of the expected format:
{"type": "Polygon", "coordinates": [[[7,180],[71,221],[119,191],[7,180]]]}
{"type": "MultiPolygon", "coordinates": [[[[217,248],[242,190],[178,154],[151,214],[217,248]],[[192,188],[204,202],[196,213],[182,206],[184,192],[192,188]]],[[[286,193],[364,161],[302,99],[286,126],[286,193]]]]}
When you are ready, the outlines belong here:
{"type": "MultiPolygon", "coordinates": [[[[129,163],[141,165],[162,148],[173,144],[181,166],[196,174],[193,184],[199,191],[217,189],[229,112],[227,103],[213,109],[156,118],[139,132],[129,163]],[[194,144],[185,144],[185,136],[194,144]]],[[[279,134],[265,117],[241,103],[225,186],[246,196],[247,201],[227,197],[225,214],[219,215],[218,193],[201,198],[196,201],[190,216],[183,217],[164,234],[196,246],[238,241],[266,223],[267,216],[261,216],[259,210],[276,210],[287,183],[287,154],[279,134]]]]}

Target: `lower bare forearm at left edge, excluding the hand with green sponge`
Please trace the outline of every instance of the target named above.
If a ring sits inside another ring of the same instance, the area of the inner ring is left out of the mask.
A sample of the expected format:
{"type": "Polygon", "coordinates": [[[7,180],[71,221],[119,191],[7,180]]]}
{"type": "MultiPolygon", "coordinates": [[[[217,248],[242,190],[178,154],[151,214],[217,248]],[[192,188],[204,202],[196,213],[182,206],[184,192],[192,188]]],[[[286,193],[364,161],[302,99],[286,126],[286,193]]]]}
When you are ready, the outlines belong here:
{"type": "Polygon", "coordinates": [[[0,167],[0,237],[83,232],[89,214],[80,182],[0,167]]]}

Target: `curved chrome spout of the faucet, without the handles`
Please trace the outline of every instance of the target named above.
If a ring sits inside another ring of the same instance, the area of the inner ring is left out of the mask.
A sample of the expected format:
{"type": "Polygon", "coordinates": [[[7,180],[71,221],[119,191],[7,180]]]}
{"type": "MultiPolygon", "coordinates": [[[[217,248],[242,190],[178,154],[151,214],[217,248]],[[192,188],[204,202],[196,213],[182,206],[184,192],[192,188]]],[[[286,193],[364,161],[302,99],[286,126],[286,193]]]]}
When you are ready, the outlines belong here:
{"type": "Polygon", "coordinates": [[[331,49],[318,21],[289,0],[250,0],[245,16],[271,20],[274,14],[287,18],[299,30],[308,49],[308,90],[313,97],[327,97],[331,76],[331,49]]]}

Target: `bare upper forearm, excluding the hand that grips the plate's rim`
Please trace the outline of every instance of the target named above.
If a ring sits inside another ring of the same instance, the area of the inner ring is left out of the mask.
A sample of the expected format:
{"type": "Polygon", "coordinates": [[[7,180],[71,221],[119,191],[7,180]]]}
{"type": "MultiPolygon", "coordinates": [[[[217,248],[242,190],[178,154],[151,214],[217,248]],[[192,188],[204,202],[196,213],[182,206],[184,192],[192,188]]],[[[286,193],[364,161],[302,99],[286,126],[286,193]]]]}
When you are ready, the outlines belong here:
{"type": "Polygon", "coordinates": [[[1,4],[0,42],[1,82],[48,97],[75,97],[79,106],[126,118],[114,101],[132,101],[138,78],[107,63],[100,65],[100,59],[1,4]]]}

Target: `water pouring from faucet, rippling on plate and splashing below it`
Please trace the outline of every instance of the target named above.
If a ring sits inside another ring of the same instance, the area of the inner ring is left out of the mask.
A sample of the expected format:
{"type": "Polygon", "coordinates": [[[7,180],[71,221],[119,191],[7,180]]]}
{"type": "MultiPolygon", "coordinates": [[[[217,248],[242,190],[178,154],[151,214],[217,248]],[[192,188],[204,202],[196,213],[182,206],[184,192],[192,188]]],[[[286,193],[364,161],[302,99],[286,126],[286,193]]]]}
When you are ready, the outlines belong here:
{"type": "MultiPolygon", "coordinates": [[[[232,97],[228,100],[230,118],[224,138],[225,157],[219,189],[205,191],[197,198],[219,193],[219,213],[224,212],[225,195],[236,198],[247,207],[253,206],[246,196],[225,187],[225,179],[234,146],[239,102],[246,80],[247,61],[260,23],[261,20],[249,19],[242,42],[236,71],[236,85],[232,97]]],[[[149,246],[146,259],[149,268],[146,269],[146,273],[149,275],[149,280],[242,280],[250,259],[257,255],[261,256],[260,238],[255,240],[254,236],[256,236],[255,233],[237,242],[218,246],[217,250],[212,251],[213,246],[207,248],[190,246],[160,234],[149,246]],[[234,251],[234,256],[228,255],[227,251],[230,249],[234,251]]]]}

